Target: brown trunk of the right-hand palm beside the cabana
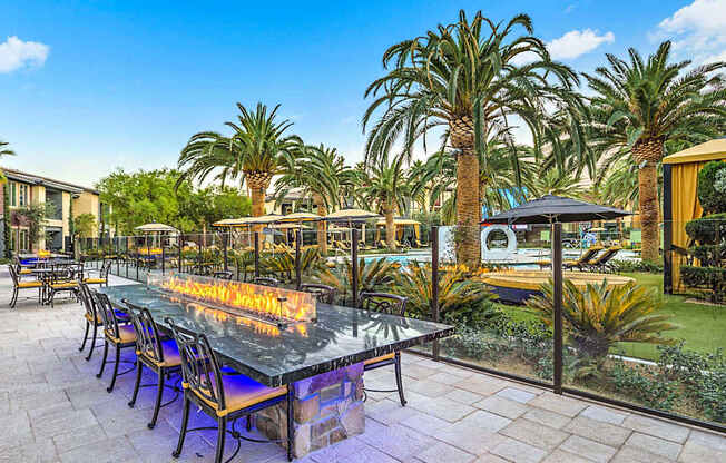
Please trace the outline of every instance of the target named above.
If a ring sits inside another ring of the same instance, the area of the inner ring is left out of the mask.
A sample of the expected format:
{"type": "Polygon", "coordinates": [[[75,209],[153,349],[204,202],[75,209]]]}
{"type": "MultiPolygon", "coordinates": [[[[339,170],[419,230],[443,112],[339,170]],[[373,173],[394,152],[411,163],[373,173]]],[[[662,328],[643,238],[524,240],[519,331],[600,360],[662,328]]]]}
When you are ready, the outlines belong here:
{"type": "Polygon", "coordinates": [[[659,258],[660,233],[658,216],[658,173],[657,164],[663,157],[661,140],[638,140],[632,147],[632,155],[638,166],[638,201],[642,239],[642,260],[657,262],[659,258]]]}

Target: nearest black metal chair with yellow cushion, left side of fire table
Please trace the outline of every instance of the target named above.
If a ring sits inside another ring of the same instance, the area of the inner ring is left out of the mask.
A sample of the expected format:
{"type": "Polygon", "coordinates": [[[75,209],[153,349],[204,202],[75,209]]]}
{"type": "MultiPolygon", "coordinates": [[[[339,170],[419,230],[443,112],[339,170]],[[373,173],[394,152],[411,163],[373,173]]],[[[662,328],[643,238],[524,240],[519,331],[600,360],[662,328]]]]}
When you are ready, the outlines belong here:
{"type": "Polygon", "coordinates": [[[217,421],[215,462],[220,463],[224,455],[226,434],[230,433],[235,439],[245,439],[235,431],[235,422],[239,417],[246,417],[247,428],[249,430],[249,416],[253,413],[286,401],[287,460],[292,461],[295,433],[293,424],[293,388],[287,386],[267,387],[251,377],[236,374],[236,372],[234,375],[223,375],[217,356],[204,334],[185,329],[174,324],[170,318],[167,318],[166,323],[171,327],[171,335],[176,341],[182,357],[182,375],[184,377],[182,430],[176,450],[171,453],[171,456],[179,457],[182,455],[187,432],[195,431],[187,428],[192,403],[217,421]],[[232,430],[227,430],[229,422],[232,422],[232,430]]]}

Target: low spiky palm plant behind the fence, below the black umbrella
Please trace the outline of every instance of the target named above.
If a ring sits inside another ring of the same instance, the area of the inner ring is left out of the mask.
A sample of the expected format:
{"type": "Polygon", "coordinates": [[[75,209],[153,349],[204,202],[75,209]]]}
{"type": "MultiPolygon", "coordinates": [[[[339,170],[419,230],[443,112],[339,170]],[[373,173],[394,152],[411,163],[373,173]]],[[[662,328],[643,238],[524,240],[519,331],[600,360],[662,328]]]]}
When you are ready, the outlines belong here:
{"type": "MultiPolygon", "coordinates": [[[[527,301],[527,306],[539,312],[543,323],[553,318],[553,285],[550,279],[541,285],[542,295],[527,301]]],[[[562,318],[569,342],[582,357],[599,358],[618,342],[670,344],[661,332],[675,329],[668,323],[670,315],[658,315],[663,299],[655,292],[635,283],[608,287],[588,284],[578,288],[566,279],[562,287],[562,318]]]]}

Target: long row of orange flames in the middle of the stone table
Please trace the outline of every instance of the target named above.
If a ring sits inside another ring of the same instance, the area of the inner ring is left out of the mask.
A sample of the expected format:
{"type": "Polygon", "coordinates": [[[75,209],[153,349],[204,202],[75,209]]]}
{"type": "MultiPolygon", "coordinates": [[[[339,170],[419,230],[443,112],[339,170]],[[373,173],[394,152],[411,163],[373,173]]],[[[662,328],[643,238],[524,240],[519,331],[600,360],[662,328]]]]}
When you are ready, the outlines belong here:
{"type": "Polygon", "coordinates": [[[307,293],[177,275],[164,278],[159,286],[195,301],[241,308],[275,321],[307,322],[315,318],[315,303],[307,293]]]}

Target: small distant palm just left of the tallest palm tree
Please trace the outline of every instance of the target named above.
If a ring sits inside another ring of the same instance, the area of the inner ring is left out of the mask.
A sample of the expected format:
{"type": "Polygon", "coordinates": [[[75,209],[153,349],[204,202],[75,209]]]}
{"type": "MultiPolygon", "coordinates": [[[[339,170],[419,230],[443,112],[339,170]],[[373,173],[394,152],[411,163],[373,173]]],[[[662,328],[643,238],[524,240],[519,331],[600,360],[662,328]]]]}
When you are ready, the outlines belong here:
{"type": "Polygon", "coordinates": [[[403,210],[408,197],[403,180],[401,160],[370,166],[366,171],[361,173],[359,180],[359,195],[365,198],[367,204],[374,203],[385,217],[385,245],[392,250],[396,248],[394,215],[403,210]]]}

